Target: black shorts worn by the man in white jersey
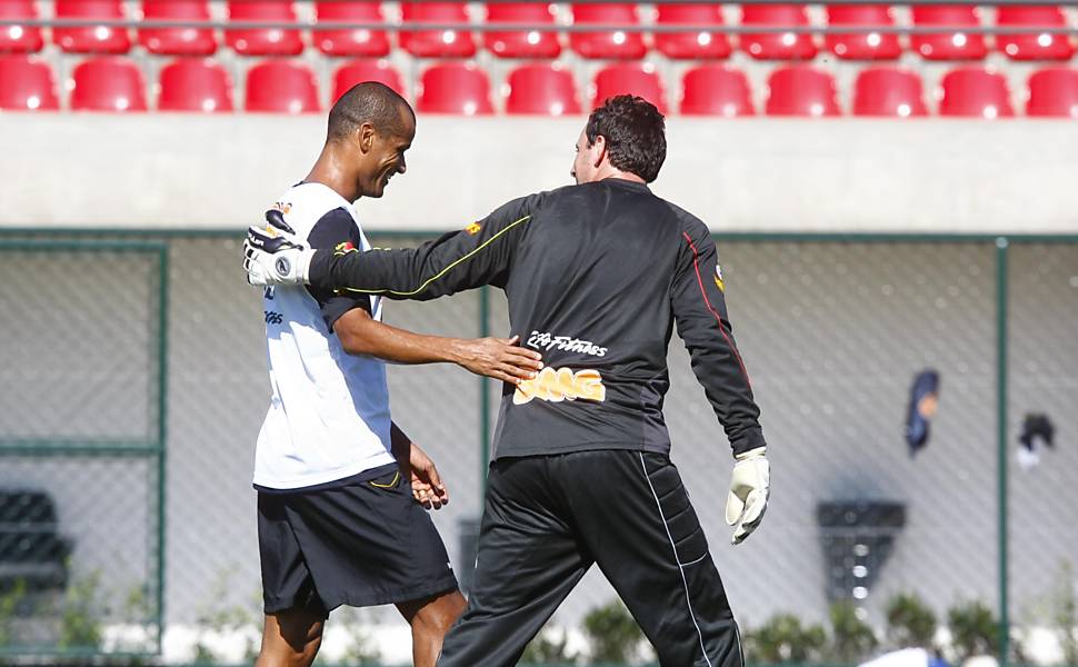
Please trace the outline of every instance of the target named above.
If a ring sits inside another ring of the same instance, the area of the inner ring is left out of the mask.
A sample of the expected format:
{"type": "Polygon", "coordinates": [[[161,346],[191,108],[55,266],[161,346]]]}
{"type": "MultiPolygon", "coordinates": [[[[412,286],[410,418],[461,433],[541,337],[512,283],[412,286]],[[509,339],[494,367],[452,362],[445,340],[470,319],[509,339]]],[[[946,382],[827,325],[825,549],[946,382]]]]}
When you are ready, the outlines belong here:
{"type": "Polygon", "coordinates": [[[266,614],[418,600],[455,590],[446,546],[396,464],[295,491],[258,489],[266,614]]]}

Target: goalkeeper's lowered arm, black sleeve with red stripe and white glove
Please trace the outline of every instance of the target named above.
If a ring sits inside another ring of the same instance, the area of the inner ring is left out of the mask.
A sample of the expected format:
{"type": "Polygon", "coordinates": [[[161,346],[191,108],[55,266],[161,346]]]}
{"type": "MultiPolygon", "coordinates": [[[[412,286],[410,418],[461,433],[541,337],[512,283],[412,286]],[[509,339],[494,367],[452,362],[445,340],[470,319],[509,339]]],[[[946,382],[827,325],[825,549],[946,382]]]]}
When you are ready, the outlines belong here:
{"type": "Polygon", "coordinates": [[[762,520],[770,492],[760,409],[733,341],[715,242],[702,223],[682,232],[678,263],[671,286],[673,317],[689,349],[692,371],[703,385],[737,460],[727,496],[726,522],[735,526],[731,541],[740,544],[762,520]]]}

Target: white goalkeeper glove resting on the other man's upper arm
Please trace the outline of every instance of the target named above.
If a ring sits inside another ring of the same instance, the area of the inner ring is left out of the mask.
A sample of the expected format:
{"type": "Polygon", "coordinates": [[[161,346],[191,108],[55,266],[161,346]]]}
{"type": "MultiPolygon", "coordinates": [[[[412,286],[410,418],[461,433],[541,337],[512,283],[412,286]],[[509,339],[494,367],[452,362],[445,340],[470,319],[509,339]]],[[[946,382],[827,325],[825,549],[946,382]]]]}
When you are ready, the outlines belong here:
{"type": "Polygon", "coordinates": [[[247,228],[243,269],[256,286],[308,282],[315,249],[305,247],[278,210],[266,212],[266,222],[247,228]]]}

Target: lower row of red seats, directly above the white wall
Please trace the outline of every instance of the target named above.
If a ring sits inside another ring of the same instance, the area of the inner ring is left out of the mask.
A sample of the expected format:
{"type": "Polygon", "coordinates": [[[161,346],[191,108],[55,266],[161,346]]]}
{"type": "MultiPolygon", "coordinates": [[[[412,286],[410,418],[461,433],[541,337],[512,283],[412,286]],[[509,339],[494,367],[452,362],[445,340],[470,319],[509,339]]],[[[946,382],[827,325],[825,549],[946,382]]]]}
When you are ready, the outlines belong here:
{"type": "MultiPolygon", "coordinates": [[[[361,60],[337,70],[333,99],[360,81],[377,80],[405,93],[400,73],[386,61],[361,60]]],[[[104,57],[74,68],[71,108],[144,111],[141,70],[130,60],[104,57]]],[[[840,116],[834,78],[806,64],[777,68],[768,78],[768,116],[840,116]]],[[[557,63],[526,64],[507,79],[508,113],[579,113],[582,107],[571,72],[557,63]]],[[[959,68],[941,82],[941,116],[997,118],[1014,116],[1007,80],[980,68],[959,68]]],[[[620,93],[640,94],[666,111],[662,81],[649,66],[612,64],[598,72],[590,102],[620,93]]],[[[248,111],[318,111],[318,83],[303,63],[270,60],[247,72],[248,111]]],[[[428,68],[420,80],[421,112],[485,115],[493,112],[489,79],[471,63],[445,62],[428,68]]],[[[24,57],[0,59],[0,109],[57,109],[59,100],[48,64],[24,57]]],[[[211,60],[180,59],[161,70],[158,108],[164,111],[231,111],[228,71],[211,60]]],[[[743,72],[718,64],[688,70],[681,80],[682,115],[751,116],[756,112],[743,72]]],[[[926,116],[920,78],[907,70],[874,67],[854,87],[855,116],[926,116]]],[[[1078,70],[1049,68],[1029,78],[1028,116],[1078,119],[1078,70]]]]}

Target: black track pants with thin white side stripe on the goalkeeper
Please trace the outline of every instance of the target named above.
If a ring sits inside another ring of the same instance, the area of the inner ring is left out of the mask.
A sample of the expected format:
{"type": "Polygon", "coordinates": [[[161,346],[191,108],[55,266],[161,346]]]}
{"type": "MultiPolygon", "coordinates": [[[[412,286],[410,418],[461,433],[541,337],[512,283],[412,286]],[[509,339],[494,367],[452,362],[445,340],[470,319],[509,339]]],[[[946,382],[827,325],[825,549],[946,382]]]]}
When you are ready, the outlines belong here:
{"type": "Polygon", "coordinates": [[[629,450],[491,465],[468,609],[439,667],[511,667],[596,563],[662,667],[741,667],[737,624],[677,468],[629,450]]]}

